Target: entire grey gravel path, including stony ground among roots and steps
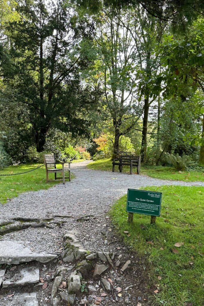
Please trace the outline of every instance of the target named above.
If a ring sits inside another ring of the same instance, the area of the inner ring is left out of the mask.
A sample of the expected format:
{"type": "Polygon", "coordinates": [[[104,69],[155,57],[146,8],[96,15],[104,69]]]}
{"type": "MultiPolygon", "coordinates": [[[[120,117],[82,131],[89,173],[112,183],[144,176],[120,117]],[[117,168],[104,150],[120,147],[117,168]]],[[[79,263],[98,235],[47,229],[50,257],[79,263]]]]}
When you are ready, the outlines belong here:
{"type": "MultiPolygon", "coordinates": [[[[114,227],[106,215],[116,199],[127,193],[128,188],[151,185],[204,186],[203,182],[164,181],[143,175],[89,170],[86,168],[88,163],[87,161],[73,163],[72,173],[76,175],[76,178],[71,182],[66,181],[65,185],[57,184],[48,190],[26,192],[1,205],[0,222],[14,217],[46,218],[53,215],[70,215],[70,218],[54,218],[54,222],[65,221],[62,226],[50,222],[53,229],[29,227],[25,230],[5,234],[1,239],[23,241],[35,252],[57,253],[60,259],[60,255],[64,251],[62,236],[68,230],[77,230],[77,238],[86,250],[115,252],[116,257],[121,255],[122,262],[125,262],[130,257],[130,250],[124,247],[120,238],[114,237],[114,227]],[[77,222],[74,217],[79,215],[93,215],[95,218],[77,222]]],[[[131,258],[134,259],[134,256],[131,258]]],[[[145,305],[149,306],[145,280],[147,275],[144,274],[145,263],[139,263],[136,259],[134,262],[137,273],[124,276],[120,286],[124,289],[128,285],[134,284],[132,295],[145,297],[145,305]]],[[[62,261],[55,263],[55,265],[61,264],[62,261]]],[[[70,267],[72,266],[70,265],[70,267]]],[[[50,271],[51,274],[54,274],[55,268],[50,271]]],[[[46,278],[46,272],[43,272],[42,267],[40,268],[40,276],[46,278]]],[[[107,274],[107,277],[112,279],[116,279],[118,276],[120,273],[117,271],[110,271],[107,274]],[[111,274],[112,272],[113,274],[111,274]]],[[[36,289],[39,306],[50,305],[50,285],[46,290],[42,290],[42,286],[36,289]]],[[[2,306],[13,305],[9,304],[7,295],[24,292],[33,292],[33,287],[13,288],[11,291],[4,289],[0,294],[0,304],[2,306]]],[[[124,305],[124,301],[119,304],[124,305]]],[[[21,304],[19,305],[21,306],[21,304]]],[[[107,304],[107,306],[112,305],[111,302],[107,304]]]]}

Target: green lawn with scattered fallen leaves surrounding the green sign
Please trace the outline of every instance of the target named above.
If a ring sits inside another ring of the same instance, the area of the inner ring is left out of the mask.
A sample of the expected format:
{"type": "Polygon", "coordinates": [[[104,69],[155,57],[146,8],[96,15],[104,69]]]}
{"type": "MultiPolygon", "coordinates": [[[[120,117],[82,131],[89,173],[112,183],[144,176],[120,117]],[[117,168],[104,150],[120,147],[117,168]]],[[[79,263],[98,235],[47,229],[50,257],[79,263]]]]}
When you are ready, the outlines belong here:
{"type": "Polygon", "coordinates": [[[126,196],[113,205],[111,218],[125,243],[149,262],[155,304],[204,305],[204,187],[141,189],[162,192],[161,216],[154,225],[150,216],[140,214],[134,214],[133,224],[128,224],[126,196]],[[182,244],[176,247],[176,243],[182,244]]]}

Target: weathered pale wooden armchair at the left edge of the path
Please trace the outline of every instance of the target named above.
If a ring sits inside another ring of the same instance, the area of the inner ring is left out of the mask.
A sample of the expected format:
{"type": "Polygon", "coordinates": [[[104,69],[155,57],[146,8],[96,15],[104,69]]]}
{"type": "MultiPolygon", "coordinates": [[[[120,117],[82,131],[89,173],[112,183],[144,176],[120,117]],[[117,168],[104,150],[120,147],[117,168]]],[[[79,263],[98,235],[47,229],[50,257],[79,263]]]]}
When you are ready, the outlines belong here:
{"type": "Polygon", "coordinates": [[[54,182],[56,180],[62,180],[63,184],[65,184],[65,178],[69,178],[69,181],[71,181],[71,170],[70,170],[70,164],[71,162],[68,162],[69,168],[65,169],[65,162],[56,162],[55,161],[55,155],[51,154],[44,154],[43,155],[44,163],[45,163],[45,169],[46,169],[46,182],[54,182]],[[61,164],[62,168],[57,169],[56,165],[61,164]],[[50,169],[53,168],[54,169],[50,169]],[[65,177],[65,171],[69,171],[69,177],[65,177]],[[61,172],[62,177],[57,177],[57,172],[61,172]],[[54,180],[48,180],[48,174],[54,173],[54,180]]]}

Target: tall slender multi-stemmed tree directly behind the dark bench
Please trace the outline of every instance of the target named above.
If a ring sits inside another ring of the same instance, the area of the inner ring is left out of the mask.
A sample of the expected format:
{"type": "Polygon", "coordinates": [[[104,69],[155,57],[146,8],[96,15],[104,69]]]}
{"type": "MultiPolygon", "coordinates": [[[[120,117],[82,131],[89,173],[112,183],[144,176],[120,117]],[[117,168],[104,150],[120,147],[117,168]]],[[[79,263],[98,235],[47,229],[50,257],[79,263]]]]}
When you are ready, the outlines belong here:
{"type": "Polygon", "coordinates": [[[114,154],[119,151],[119,139],[137,123],[142,107],[136,99],[134,65],[136,44],[120,20],[132,27],[130,12],[108,9],[99,24],[100,70],[105,92],[105,103],[113,122],[114,154]]]}

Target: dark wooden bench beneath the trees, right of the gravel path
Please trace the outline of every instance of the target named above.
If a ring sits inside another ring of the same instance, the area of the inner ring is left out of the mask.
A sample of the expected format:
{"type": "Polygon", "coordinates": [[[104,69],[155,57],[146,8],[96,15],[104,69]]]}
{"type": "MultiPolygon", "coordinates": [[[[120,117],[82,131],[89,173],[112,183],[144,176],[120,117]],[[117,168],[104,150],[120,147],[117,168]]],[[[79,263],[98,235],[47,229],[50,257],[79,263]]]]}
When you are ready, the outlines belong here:
{"type": "Polygon", "coordinates": [[[137,167],[137,174],[140,172],[140,159],[141,156],[137,155],[120,155],[119,158],[113,159],[113,172],[115,171],[115,166],[119,166],[119,171],[122,172],[123,166],[130,166],[130,174],[132,174],[132,167],[137,167]]]}

